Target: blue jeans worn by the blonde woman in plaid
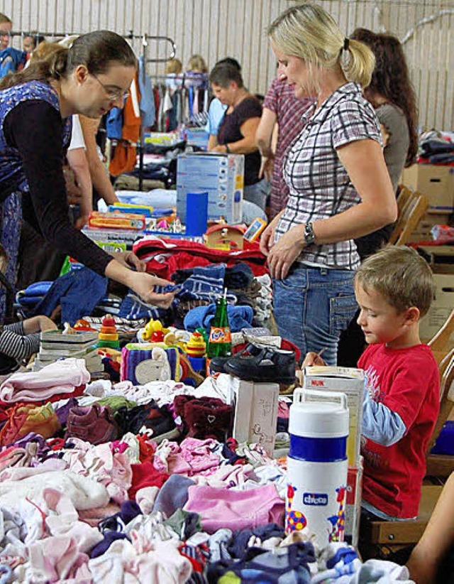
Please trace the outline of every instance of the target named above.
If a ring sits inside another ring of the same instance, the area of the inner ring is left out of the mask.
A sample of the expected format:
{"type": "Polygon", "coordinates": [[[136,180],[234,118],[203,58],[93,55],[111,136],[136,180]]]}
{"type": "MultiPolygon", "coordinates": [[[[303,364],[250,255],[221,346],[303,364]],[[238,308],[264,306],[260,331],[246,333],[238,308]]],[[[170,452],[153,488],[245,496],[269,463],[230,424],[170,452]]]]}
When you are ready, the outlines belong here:
{"type": "Polygon", "coordinates": [[[324,349],[323,360],[336,365],[341,332],[358,309],[354,272],[293,267],[287,278],[274,281],[274,313],[279,335],[301,351],[324,349]]]}

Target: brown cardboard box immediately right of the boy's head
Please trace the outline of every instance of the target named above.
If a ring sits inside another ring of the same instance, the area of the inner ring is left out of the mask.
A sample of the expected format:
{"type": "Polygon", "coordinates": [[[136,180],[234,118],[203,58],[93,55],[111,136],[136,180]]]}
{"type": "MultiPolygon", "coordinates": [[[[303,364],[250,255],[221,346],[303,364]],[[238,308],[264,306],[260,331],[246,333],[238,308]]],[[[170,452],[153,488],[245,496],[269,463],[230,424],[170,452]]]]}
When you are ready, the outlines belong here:
{"type": "MultiPolygon", "coordinates": [[[[454,307],[454,276],[453,274],[433,274],[436,291],[428,313],[419,323],[421,340],[430,340],[440,329],[454,307]]],[[[451,335],[450,346],[454,346],[454,335],[451,335]]]]}

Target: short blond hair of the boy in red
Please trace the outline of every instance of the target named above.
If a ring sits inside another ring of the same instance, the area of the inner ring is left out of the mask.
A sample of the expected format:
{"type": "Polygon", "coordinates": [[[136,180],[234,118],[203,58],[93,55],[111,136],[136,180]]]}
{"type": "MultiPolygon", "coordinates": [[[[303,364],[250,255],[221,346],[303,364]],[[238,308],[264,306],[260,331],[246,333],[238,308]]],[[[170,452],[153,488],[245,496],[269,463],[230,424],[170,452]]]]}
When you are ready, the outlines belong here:
{"type": "Polygon", "coordinates": [[[366,293],[374,290],[399,313],[411,306],[425,315],[435,295],[435,282],[428,263],[414,250],[389,245],[362,262],[355,274],[355,286],[366,293]]]}

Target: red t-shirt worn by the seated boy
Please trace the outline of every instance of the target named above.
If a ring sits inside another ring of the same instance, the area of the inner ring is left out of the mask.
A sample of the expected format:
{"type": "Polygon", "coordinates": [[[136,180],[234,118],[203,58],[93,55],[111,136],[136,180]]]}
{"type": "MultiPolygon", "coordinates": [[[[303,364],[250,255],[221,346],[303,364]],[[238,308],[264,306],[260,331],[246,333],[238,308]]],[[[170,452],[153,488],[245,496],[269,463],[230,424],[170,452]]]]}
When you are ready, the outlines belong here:
{"type": "Polygon", "coordinates": [[[362,436],[362,498],[392,517],[418,514],[426,448],[440,407],[440,377],[430,347],[370,345],[358,361],[374,401],[399,414],[406,433],[392,446],[362,436]]]}

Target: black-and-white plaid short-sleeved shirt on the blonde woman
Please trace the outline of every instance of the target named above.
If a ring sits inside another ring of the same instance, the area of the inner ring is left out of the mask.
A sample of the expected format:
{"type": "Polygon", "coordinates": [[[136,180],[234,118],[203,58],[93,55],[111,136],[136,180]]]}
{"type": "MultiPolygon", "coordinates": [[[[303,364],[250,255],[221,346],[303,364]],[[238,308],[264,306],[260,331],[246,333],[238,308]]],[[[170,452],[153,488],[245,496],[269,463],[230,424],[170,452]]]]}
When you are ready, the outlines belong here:
{"type": "MultiPolygon", "coordinates": [[[[382,144],[380,126],[360,86],[343,85],[314,111],[303,114],[306,124],[287,152],[284,179],[290,196],[276,229],[276,240],[295,225],[327,219],[360,202],[360,196],[338,158],[336,149],[355,140],[382,144]]],[[[360,264],[353,239],[309,245],[297,261],[328,268],[354,270],[360,264]]]]}

